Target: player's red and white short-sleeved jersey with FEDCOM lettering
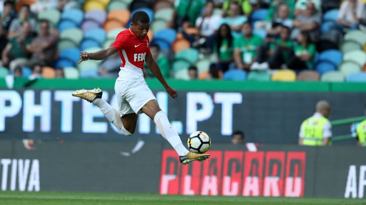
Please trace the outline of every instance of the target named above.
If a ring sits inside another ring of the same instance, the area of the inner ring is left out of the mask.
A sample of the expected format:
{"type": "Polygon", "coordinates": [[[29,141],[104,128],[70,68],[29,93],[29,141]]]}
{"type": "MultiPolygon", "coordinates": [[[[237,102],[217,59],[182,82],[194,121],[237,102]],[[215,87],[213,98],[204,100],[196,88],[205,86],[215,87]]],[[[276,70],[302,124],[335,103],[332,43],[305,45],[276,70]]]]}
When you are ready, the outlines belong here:
{"type": "Polygon", "coordinates": [[[111,45],[117,49],[122,60],[118,80],[144,81],[143,65],[146,55],[150,55],[149,39],[140,39],[131,28],[118,33],[111,45]]]}

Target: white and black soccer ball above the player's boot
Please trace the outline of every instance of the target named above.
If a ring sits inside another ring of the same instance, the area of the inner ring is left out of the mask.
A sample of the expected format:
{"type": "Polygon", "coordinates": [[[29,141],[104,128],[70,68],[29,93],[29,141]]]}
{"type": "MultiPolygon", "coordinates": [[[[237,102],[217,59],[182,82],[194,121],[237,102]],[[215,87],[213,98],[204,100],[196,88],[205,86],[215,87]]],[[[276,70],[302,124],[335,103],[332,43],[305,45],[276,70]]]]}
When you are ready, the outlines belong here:
{"type": "Polygon", "coordinates": [[[188,137],[188,148],[195,153],[205,153],[211,146],[211,139],[207,133],[196,131],[188,137]]]}

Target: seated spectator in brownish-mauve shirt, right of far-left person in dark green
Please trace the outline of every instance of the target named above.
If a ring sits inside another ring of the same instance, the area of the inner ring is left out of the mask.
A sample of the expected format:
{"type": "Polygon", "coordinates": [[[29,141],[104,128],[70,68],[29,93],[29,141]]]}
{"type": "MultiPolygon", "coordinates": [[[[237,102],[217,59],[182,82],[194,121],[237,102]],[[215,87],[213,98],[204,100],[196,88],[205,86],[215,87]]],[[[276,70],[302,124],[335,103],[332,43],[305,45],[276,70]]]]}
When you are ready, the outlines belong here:
{"type": "Polygon", "coordinates": [[[36,63],[42,63],[47,66],[52,66],[57,47],[57,39],[58,37],[50,32],[48,21],[41,20],[39,34],[26,47],[27,52],[32,54],[31,60],[26,65],[33,67],[36,63]]]}

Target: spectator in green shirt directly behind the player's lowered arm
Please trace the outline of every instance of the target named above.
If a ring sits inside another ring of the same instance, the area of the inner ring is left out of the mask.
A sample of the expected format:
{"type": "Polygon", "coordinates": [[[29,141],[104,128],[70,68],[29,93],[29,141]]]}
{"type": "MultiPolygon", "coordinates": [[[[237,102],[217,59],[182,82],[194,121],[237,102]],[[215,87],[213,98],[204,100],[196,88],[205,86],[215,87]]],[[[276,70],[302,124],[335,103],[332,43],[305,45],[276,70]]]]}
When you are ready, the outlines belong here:
{"type": "MultiPolygon", "coordinates": [[[[160,71],[162,72],[165,78],[170,77],[170,64],[168,58],[160,52],[160,47],[158,44],[153,44],[150,46],[151,55],[153,56],[154,60],[159,65],[160,71]]],[[[146,66],[145,66],[146,68],[146,66]]],[[[148,77],[155,77],[153,73],[151,73],[150,69],[146,69],[148,77]]]]}

